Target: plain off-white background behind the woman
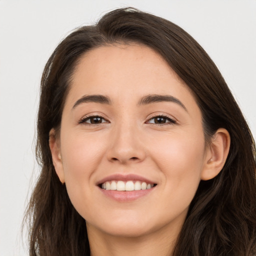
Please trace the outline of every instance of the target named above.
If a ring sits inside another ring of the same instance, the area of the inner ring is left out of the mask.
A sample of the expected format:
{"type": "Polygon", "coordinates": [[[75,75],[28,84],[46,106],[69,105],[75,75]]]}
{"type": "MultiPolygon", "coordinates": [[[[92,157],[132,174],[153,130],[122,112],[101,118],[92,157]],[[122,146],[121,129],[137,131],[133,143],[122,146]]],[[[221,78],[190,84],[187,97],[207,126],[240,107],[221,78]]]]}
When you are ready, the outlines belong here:
{"type": "Polygon", "coordinates": [[[39,170],[33,138],[43,66],[70,30],[120,6],[189,32],[219,67],[256,136],[256,0],[0,0],[0,256],[28,255],[20,227],[39,170]]]}

